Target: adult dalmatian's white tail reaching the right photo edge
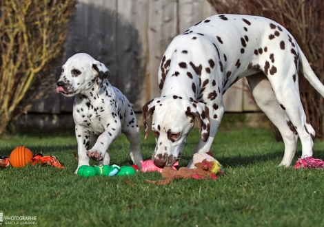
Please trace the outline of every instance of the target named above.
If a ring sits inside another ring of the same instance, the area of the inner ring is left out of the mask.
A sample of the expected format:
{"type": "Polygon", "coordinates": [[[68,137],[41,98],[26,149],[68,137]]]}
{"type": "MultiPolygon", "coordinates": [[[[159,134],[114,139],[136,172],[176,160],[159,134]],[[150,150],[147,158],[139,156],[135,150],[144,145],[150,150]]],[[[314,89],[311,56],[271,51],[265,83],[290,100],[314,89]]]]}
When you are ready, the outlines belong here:
{"type": "Polygon", "coordinates": [[[312,68],[310,67],[310,63],[308,63],[304,53],[301,51],[301,48],[298,46],[298,52],[300,56],[299,64],[301,66],[301,72],[305,76],[305,78],[310,82],[310,84],[318,91],[321,96],[324,97],[324,85],[314,74],[312,68]]]}

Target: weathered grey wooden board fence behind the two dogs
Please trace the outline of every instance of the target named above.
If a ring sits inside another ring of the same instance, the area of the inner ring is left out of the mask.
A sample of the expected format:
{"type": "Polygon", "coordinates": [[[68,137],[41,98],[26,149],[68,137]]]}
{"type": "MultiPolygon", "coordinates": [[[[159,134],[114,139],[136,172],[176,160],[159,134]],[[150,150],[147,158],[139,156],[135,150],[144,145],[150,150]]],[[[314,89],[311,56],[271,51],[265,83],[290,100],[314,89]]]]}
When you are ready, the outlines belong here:
{"type": "MultiPolygon", "coordinates": [[[[79,52],[90,54],[110,69],[110,83],[134,103],[134,111],[141,112],[145,102],[159,96],[157,72],[168,44],[213,14],[207,0],[79,0],[62,62],[79,52]]],[[[246,85],[239,80],[225,93],[226,111],[258,110],[246,85]]],[[[53,91],[19,122],[35,124],[34,119],[41,126],[70,125],[72,102],[53,91]]]]}

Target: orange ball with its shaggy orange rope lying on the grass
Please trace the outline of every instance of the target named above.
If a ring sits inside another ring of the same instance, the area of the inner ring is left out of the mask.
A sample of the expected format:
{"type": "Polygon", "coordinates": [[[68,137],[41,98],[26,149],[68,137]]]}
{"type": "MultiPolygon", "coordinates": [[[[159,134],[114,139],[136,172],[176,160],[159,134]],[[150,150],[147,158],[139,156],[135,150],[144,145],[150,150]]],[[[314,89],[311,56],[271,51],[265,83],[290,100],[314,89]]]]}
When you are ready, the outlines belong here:
{"type": "Polygon", "coordinates": [[[41,153],[35,153],[35,155],[33,155],[32,151],[26,147],[17,147],[10,153],[9,158],[6,156],[0,157],[0,168],[6,168],[10,166],[10,164],[15,168],[19,168],[29,163],[32,165],[37,163],[48,164],[59,169],[64,168],[55,156],[43,156],[41,153]]]}

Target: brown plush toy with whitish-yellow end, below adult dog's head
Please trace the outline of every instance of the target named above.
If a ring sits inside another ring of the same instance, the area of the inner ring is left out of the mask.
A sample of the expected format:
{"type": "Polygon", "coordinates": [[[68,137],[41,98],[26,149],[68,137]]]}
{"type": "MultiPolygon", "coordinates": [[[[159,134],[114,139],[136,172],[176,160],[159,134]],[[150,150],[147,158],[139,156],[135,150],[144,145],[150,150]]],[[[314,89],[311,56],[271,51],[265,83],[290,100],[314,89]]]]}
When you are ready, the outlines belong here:
{"type": "Polygon", "coordinates": [[[224,170],[221,164],[211,155],[207,153],[195,153],[194,154],[194,166],[195,169],[189,169],[187,167],[181,167],[179,171],[173,169],[173,167],[164,167],[162,176],[165,180],[151,181],[146,180],[145,182],[151,184],[170,184],[175,179],[214,179],[217,180],[216,174],[223,175],[224,170]]]}

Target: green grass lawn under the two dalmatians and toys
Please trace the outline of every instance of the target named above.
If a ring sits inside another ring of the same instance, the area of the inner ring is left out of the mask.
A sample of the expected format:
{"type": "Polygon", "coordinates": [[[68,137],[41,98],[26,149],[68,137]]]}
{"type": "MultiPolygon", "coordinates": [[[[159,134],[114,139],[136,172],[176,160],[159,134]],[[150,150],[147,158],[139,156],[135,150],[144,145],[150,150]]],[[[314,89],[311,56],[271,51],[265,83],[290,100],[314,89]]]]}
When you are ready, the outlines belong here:
{"type": "MultiPolygon", "coordinates": [[[[37,226],[324,226],[324,171],[293,169],[301,155],[300,144],[292,166],[278,167],[284,146],[274,140],[270,129],[221,129],[211,151],[226,175],[219,180],[176,180],[166,186],[145,182],[161,180],[159,173],[74,175],[73,133],[73,129],[30,132],[0,140],[0,155],[10,155],[23,145],[34,153],[55,155],[65,166],[0,170],[4,216],[37,216],[37,226]]],[[[194,129],[181,166],[190,161],[198,139],[199,131],[194,129]]],[[[114,141],[111,164],[132,164],[128,146],[125,136],[114,141]]],[[[154,146],[151,133],[142,140],[145,160],[154,146]]],[[[314,157],[323,159],[323,150],[324,142],[316,141],[314,157]]]]}

